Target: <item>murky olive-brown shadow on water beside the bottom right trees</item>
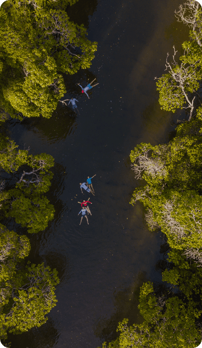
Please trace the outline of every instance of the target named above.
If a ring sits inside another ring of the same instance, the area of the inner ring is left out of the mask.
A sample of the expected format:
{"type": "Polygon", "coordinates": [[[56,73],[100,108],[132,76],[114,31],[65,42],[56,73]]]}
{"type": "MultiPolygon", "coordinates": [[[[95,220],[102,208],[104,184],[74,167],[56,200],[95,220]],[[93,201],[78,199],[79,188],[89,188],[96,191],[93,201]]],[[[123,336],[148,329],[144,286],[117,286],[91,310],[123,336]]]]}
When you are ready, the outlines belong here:
{"type": "Polygon", "coordinates": [[[114,313],[109,319],[100,318],[95,325],[95,335],[102,341],[107,343],[115,340],[120,333],[117,333],[116,329],[120,321],[124,318],[128,319],[128,325],[134,323],[141,324],[143,317],[138,310],[140,287],[146,282],[146,272],[139,272],[136,281],[131,286],[123,288],[120,291],[114,293],[114,306],[116,313],[114,313]]]}

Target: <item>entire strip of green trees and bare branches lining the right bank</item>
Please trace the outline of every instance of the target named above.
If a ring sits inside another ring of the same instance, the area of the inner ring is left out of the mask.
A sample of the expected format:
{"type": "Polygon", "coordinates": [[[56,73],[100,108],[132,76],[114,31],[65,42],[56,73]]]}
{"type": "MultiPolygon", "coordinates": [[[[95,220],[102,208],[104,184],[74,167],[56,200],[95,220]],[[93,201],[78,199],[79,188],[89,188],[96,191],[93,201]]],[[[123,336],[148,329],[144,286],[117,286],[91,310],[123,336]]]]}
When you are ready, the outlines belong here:
{"type": "Polygon", "coordinates": [[[130,153],[132,169],[143,184],[131,204],[143,203],[150,230],[161,230],[168,244],[167,268],[161,290],[141,287],[142,324],[119,323],[117,340],[103,348],[194,348],[202,332],[202,11],[188,0],[175,11],[191,28],[184,54],[166,60],[168,72],[156,83],[164,110],[186,110],[168,144],[141,143],[130,153]],[[171,288],[173,291],[171,291],[171,288]]]}

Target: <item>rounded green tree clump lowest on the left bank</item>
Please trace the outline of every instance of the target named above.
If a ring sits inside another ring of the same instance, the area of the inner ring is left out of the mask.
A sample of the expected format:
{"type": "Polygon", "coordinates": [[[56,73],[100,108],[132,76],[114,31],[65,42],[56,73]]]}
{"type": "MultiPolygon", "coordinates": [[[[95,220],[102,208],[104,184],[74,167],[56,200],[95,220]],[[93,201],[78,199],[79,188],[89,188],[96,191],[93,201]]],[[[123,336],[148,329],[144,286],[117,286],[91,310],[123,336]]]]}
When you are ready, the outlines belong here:
{"type": "Polygon", "coordinates": [[[0,316],[2,336],[6,331],[19,334],[41,326],[48,320],[45,315],[56,305],[54,290],[59,282],[56,269],[51,272],[50,267],[33,264],[27,267],[25,276],[28,283],[15,290],[12,308],[0,316]]]}

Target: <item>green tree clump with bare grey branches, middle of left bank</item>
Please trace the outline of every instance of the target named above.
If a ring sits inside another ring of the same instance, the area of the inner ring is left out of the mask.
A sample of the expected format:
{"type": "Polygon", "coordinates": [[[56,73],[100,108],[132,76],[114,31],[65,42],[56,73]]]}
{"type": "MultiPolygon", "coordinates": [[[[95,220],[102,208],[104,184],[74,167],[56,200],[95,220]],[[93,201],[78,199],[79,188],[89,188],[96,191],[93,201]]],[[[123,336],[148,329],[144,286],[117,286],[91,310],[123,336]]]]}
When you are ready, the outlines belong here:
{"type": "Polygon", "coordinates": [[[8,138],[2,136],[1,140],[1,167],[10,173],[11,179],[19,180],[15,180],[14,188],[2,182],[0,218],[14,218],[29,233],[38,233],[54,218],[54,206],[43,196],[51,185],[53,157],[46,153],[32,156],[28,150],[17,149],[8,138]]]}

